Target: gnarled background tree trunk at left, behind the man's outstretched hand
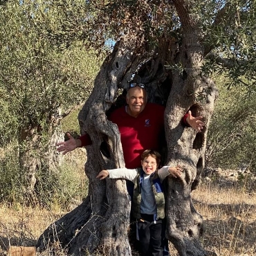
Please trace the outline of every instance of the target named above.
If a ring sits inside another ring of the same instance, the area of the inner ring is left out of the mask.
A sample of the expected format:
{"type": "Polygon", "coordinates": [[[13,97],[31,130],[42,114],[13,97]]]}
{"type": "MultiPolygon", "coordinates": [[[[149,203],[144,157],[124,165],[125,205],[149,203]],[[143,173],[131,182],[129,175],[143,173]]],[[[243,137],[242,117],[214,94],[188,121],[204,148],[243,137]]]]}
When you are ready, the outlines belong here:
{"type": "Polygon", "coordinates": [[[47,170],[49,174],[56,171],[56,165],[59,165],[63,156],[56,151],[55,144],[60,141],[64,133],[60,128],[53,129],[54,122],[51,122],[49,134],[51,138],[42,143],[41,127],[28,127],[28,129],[21,129],[19,131],[19,170],[21,179],[25,179],[21,184],[24,185],[24,193],[26,196],[26,203],[35,203],[37,196],[35,194],[35,185],[37,183],[36,174],[40,168],[47,170]],[[44,163],[44,166],[42,166],[44,163]]]}

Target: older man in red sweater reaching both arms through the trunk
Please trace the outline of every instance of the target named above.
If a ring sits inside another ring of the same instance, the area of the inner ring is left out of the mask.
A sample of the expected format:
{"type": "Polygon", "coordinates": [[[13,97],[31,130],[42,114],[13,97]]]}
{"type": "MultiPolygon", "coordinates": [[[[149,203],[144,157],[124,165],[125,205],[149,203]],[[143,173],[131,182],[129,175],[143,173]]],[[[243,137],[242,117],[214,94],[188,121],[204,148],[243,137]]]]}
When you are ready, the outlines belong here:
{"type": "MultiPolygon", "coordinates": [[[[159,136],[164,134],[164,111],[159,104],[147,103],[144,84],[132,83],[126,95],[127,106],[114,110],[109,116],[111,122],[118,125],[125,158],[125,167],[140,167],[140,155],[145,149],[159,150],[159,136]]],[[[194,118],[189,111],[184,117],[185,125],[196,131],[203,129],[203,117],[194,118]]],[[[75,139],[67,134],[69,140],[57,143],[57,151],[66,154],[77,147],[91,145],[89,134],[75,139]]]]}

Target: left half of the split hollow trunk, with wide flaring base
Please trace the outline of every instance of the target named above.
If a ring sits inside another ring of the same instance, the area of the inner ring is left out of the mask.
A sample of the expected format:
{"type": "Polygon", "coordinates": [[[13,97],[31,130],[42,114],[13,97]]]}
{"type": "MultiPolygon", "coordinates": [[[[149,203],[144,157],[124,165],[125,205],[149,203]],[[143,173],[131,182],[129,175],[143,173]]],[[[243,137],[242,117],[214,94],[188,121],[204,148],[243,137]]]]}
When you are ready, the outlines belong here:
{"type": "Polygon", "coordinates": [[[118,86],[127,86],[132,72],[127,72],[127,66],[138,66],[140,59],[134,55],[133,47],[123,42],[116,44],[111,56],[102,64],[91,96],[79,115],[82,134],[88,132],[93,141],[86,147],[89,196],[82,205],[45,230],[37,241],[39,250],[58,242],[74,255],[131,255],[126,183],[99,181],[95,177],[100,170],[125,166],[118,127],[107,120],[105,112],[115,100],[118,86]],[[102,143],[107,143],[109,156],[102,154],[102,143]]]}

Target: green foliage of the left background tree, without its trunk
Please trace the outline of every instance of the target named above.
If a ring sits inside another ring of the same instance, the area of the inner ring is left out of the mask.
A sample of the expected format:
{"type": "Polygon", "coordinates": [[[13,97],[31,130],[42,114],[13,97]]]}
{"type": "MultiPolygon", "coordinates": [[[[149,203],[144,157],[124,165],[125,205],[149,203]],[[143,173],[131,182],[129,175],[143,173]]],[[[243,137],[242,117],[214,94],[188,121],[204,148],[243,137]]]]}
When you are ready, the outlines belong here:
{"type": "Polygon", "coordinates": [[[0,108],[7,117],[1,118],[0,134],[10,123],[12,136],[24,127],[48,131],[63,111],[89,96],[102,56],[95,57],[82,42],[65,51],[52,44],[48,31],[57,13],[43,1],[8,1],[0,8],[0,108]]]}

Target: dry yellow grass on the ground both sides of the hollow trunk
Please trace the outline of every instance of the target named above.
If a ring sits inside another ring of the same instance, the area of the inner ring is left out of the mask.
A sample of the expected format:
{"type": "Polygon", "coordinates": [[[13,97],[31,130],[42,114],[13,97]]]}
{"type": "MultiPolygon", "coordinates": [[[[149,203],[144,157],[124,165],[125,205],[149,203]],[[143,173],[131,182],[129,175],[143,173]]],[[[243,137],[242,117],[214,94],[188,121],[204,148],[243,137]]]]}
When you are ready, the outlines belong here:
{"type": "MultiPolygon", "coordinates": [[[[192,192],[192,199],[205,220],[204,248],[217,256],[256,255],[256,193],[248,193],[238,187],[221,188],[218,184],[205,184],[192,192]]],[[[45,228],[63,214],[65,212],[57,210],[1,205],[2,252],[10,245],[34,246],[45,228]]],[[[171,252],[177,255],[172,246],[171,252]]]]}

